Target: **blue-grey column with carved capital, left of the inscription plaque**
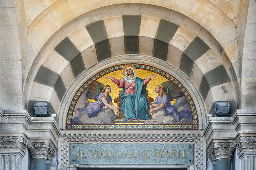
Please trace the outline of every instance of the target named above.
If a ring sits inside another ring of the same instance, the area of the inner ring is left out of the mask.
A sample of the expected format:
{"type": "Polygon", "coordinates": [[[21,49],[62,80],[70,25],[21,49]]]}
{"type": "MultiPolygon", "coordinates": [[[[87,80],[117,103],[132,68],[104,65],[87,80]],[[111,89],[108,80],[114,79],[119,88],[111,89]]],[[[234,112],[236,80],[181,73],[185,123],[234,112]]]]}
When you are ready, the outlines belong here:
{"type": "Polygon", "coordinates": [[[29,142],[28,149],[32,155],[32,169],[33,170],[45,170],[49,169],[48,163],[52,161],[55,155],[55,151],[48,142],[29,142]]]}

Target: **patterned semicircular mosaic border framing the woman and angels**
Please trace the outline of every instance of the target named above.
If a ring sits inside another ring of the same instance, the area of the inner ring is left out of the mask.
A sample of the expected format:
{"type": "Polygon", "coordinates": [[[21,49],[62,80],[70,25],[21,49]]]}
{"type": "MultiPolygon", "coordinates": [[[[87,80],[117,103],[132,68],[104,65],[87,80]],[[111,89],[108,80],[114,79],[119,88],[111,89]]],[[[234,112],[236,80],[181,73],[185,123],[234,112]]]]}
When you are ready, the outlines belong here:
{"type": "MultiPolygon", "coordinates": [[[[130,63],[128,63],[130,64],[130,63]]],[[[163,77],[165,77],[166,79],[172,81],[183,93],[183,95],[185,96],[186,100],[189,103],[190,109],[191,109],[191,113],[192,113],[192,118],[193,118],[193,124],[192,125],[182,125],[182,124],[154,124],[154,125],[141,125],[141,124],[122,124],[122,125],[101,125],[101,124],[96,124],[96,125],[91,125],[91,124],[85,124],[85,125],[72,125],[72,115],[73,115],[73,111],[76,105],[76,102],[78,101],[78,99],[80,98],[80,96],[82,95],[82,93],[89,87],[89,85],[96,81],[97,79],[99,79],[100,77],[110,73],[110,72],[114,72],[117,70],[122,70],[123,67],[127,64],[122,64],[122,65],[116,65],[110,68],[107,68],[99,73],[97,73],[96,75],[94,75],[93,77],[91,77],[89,80],[87,80],[81,87],[80,89],[76,92],[74,98],[72,99],[72,102],[69,106],[68,109],[68,114],[67,114],[67,120],[66,120],[66,129],[67,130],[115,130],[115,129],[120,129],[120,130],[134,130],[134,129],[138,129],[138,130],[198,130],[198,116],[197,116],[197,111],[196,111],[196,107],[194,105],[194,101],[192,100],[190,94],[188,93],[188,91],[186,90],[186,88],[183,87],[183,85],[173,76],[171,76],[170,74],[152,67],[152,66],[148,66],[148,65],[144,65],[144,64],[134,64],[134,67],[136,69],[143,69],[143,70],[148,70],[151,72],[154,72],[156,74],[159,74],[163,77]]]]}

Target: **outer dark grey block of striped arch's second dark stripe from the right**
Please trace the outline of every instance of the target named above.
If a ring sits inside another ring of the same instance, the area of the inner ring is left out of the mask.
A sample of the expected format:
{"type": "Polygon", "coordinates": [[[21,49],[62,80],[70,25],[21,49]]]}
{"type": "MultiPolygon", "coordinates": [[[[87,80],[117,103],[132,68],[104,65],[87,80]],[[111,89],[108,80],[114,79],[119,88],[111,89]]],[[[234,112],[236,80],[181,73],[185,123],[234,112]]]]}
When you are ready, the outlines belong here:
{"type": "Polygon", "coordinates": [[[207,44],[205,44],[205,42],[203,40],[201,40],[199,37],[195,37],[195,39],[184,50],[184,53],[189,58],[191,58],[191,60],[196,61],[199,57],[201,57],[209,49],[210,49],[210,47],[207,44]]]}

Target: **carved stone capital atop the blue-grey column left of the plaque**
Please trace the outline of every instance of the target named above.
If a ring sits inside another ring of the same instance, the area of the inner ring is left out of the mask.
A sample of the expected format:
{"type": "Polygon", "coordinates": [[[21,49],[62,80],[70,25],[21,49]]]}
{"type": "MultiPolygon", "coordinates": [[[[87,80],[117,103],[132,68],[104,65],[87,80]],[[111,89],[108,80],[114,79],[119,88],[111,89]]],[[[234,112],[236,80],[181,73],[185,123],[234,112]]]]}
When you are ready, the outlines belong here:
{"type": "Polygon", "coordinates": [[[27,146],[32,155],[32,159],[41,158],[47,160],[49,158],[49,160],[51,161],[53,148],[48,142],[28,142],[27,146]]]}

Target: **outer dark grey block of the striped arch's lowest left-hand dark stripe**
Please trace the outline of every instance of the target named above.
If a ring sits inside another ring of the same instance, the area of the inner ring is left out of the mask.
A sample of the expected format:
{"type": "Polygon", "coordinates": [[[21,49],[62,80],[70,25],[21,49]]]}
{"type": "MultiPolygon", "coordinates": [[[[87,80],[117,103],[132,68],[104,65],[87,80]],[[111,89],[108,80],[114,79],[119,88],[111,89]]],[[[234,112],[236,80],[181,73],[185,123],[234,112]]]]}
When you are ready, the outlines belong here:
{"type": "Polygon", "coordinates": [[[58,77],[58,73],[55,73],[54,71],[41,65],[39,70],[37,71],[34,81],[40,84],[54,87],[58,77]]]}

